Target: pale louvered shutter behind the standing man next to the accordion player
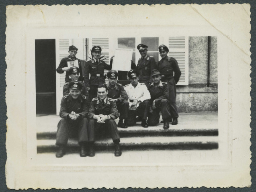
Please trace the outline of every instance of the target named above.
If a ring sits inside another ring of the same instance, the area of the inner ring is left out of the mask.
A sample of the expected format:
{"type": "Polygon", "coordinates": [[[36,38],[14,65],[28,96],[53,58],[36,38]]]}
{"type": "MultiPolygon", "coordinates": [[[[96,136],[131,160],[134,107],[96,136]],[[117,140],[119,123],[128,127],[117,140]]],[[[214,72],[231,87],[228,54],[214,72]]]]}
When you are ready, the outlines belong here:
{"type": "MultiPolygon", "coordinates": [[[[92,47],[100,46],[101,47],[101,56],[104,56],[101,60],[104,60],[106,64],[109,64],[109,38],[92,38],[92,47]]],[[[104,70],[104,74],[106,74],[108,70],[104,70]]],[[[106,83],[108,83],[108,79],[105,79],[106,83]]]]}

